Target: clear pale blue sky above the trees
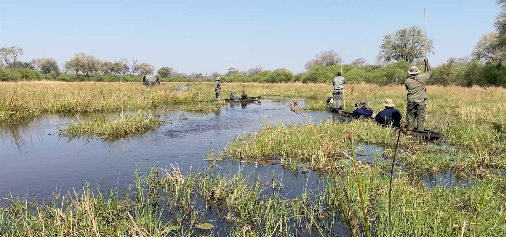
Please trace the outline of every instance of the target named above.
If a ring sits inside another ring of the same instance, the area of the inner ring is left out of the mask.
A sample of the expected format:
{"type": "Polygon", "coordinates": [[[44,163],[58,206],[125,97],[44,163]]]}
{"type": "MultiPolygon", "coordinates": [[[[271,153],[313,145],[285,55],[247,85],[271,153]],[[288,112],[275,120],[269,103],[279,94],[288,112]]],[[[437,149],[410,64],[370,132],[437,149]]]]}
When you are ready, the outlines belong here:
{"type": "Polygon", "coordinates": [[[320,51],[344,63],[374,63],[385,34],[416,25],[434,40],[431,64],[469,55],[494,30],[495,0],[438,1],[2,1],[0,46],[24,49],[20,59],[59,64],[74,53],[122,57],[180,72],[304,70],[320,51]],[[144,3],[142,3],[144,2],[144,3]]]}

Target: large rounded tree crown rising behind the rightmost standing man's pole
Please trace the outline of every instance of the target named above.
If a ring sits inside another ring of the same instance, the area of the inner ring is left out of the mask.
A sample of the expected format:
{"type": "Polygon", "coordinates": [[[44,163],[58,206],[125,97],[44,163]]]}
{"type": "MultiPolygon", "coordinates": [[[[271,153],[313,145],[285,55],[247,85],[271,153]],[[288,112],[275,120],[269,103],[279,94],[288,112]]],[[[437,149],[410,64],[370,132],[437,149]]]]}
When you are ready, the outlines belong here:
{"type": "MultiPolygon", "coordinates": [[[[424,31],[417,26],[400,29],[395,33],[385,35],[379,48],[381,49],[379,54],[387,62],[395,60],[412,63],[415,59],[423,59],[425,56],[424,31]]],[[[433,49],[432,39],[427,39],[429,55],[434,54],[433,49]]]]}

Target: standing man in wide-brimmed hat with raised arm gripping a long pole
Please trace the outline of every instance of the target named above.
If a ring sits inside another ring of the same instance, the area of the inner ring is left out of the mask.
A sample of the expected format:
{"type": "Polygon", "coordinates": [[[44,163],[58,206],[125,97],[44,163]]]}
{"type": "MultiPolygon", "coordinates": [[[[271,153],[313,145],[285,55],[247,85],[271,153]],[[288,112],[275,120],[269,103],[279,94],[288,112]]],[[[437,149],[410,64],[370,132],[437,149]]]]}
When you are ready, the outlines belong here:
{"type": "Polygon", "coordinates": [[[425,59],[425,66],[427,67],[427,72],[422,74],[420,74],[421,71],[416,66],[412,66],[408,71],[411,76],[404,82],[408,91],[406,96],[408,101],[406,120],[409,129],[424,130],[425,127],[425,101],[427,100],[425,84],[432,74],[429,60],[427,59],[425,59]]]}

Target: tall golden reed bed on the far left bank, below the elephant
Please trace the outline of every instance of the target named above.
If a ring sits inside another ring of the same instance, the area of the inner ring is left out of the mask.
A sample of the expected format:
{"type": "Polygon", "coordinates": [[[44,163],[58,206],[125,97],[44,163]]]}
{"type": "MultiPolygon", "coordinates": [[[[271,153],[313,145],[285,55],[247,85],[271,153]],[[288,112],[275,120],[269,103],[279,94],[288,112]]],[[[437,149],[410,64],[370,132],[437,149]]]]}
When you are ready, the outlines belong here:
{"type": "Polygon", "coordinates": [[[164,105],[189,105],[200,112],[216,111],[219,103],[207,101],[212,86],[177,92],[176,84],[147,88],[125,82],[3,82],[0,83],[0,120],[23,120],[48,113],[105,112],[154,109],[164,105]],[[208,88],[209,87],[209,88],[208,88]],[[216,104],[213,106],[213,104],[216,104]]]}

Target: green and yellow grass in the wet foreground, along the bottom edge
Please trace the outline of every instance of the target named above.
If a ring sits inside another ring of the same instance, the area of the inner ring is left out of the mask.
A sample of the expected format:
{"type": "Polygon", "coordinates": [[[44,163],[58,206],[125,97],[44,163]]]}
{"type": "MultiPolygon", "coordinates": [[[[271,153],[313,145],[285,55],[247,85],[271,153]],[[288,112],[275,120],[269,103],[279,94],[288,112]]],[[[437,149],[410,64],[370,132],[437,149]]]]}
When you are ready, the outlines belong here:
{"type": "MultiPolygon", "coordinates": [[[[343,175],[359,213],[354,174],[343,175]]],[[[388,178],[383,177],[377,169],[360,173],[375,236],[388,236],[388,178]]],[[[0,230],[3,236],[343,234],[337,230],[343,225],[343,212],[337,208],[341,192],[327,185],[287,200],[279,180],[262,183],[241,172],[214,175],[210,170],[183,174],[177,167],[138,171],[123,192],[86,183],[80,190],[55,192],[43,203],[12,197],[11,204],[0,208],[0,230]],[[212,226],[200,229],[202,223],[212,226]]],[[[468,188],[431,190],[398,177],[392,199],[394,236],[504,236],[504,185],[504,179],[485,179],[468,188]]],[[[356,217],[363,230],[363,219],[356,217]]]]}

